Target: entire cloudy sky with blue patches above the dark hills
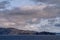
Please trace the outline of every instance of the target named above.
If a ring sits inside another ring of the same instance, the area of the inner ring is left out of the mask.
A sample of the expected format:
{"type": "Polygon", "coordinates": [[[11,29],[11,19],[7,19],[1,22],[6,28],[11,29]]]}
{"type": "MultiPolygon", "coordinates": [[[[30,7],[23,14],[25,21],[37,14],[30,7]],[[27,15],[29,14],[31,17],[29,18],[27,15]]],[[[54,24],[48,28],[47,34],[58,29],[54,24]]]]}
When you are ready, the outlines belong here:
{"type": "Polygon", "coordinates": [[[0,28],[60,33],[60,0],[1,0],[0,28]]]}

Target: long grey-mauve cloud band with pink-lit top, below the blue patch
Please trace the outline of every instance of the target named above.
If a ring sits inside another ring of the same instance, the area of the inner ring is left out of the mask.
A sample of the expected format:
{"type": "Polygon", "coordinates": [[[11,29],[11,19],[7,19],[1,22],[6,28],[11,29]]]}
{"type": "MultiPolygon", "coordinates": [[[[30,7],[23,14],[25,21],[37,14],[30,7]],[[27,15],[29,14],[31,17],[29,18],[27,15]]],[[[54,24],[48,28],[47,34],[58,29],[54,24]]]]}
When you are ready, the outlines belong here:
{"type": "MultiPolygon", "coordinates": [[[[60,9],[53,6],[46,6],[46,5],[40,5],[40,6],[31,6],[31,7],[18,7],[13,8],[10,11],[5,11],[6,14],[9,16],[24,16],[24,17],[43,17],[43,18],[49,18],[49,17],[56,17],[60,16],[60,9]]],[[[4,12],[4,13],[5,13],[4,12]]],[[[6,15],[5,14],[5,15],[6,15]]]]}

